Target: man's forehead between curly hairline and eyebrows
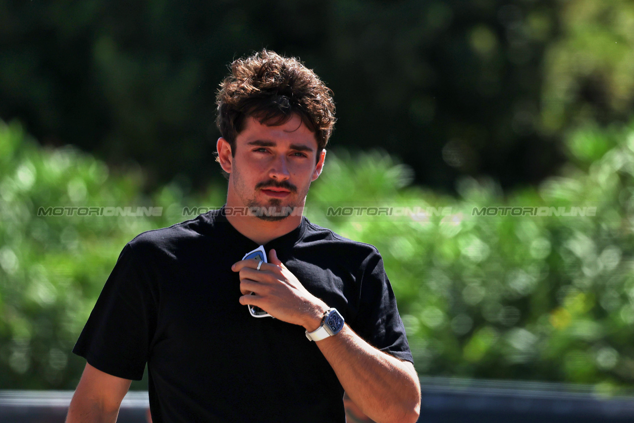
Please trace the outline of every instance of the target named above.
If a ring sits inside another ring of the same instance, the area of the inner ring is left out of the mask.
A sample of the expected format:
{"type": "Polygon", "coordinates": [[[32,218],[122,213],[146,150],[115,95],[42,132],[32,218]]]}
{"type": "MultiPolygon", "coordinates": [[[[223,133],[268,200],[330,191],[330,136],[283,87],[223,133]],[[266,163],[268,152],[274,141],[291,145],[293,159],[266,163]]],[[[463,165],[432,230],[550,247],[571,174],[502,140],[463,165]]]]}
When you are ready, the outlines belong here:
{"type": "Polygon", "coordinates": [[[284,124],[268,126],[262,124],[255,117],[249,116],[245,119],[242,131],[236,137],[238,143],[249,143],[252,141],[268,141],[281,144],[302,144],[317,150],[316,134],[308,129],[298,115],[293,115],[284,124]]]}

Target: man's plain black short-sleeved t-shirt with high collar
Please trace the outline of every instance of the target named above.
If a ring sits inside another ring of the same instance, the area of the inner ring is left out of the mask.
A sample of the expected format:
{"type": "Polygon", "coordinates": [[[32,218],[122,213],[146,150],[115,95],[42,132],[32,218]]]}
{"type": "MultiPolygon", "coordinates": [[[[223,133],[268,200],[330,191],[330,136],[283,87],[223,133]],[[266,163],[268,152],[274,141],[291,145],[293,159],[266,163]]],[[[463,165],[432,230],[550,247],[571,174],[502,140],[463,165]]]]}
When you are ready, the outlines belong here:
{"type": "MultiPolygon", "coordinates": [[[[343,388],[304,328],[238,302],[231,264],[257,244],[223,210],[129,242],[73,352],[124,379],[147,363],[155,423],[344,422],[343,388]]],[[[375,247],[306,218],[264,247],[363,339],[412,361],[375,247]]]]}

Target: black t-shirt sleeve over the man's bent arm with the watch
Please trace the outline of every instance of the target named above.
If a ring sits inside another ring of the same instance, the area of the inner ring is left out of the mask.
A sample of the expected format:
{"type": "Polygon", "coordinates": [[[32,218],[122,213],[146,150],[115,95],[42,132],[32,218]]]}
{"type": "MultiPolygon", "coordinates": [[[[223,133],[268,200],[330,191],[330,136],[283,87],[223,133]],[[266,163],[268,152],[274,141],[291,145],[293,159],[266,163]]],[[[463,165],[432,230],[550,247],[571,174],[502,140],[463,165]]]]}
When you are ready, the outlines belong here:
{"type": "Polygon", "coordinates": [[[396,297],[377,251],[364,261],[361,271],[359,311],[353,329],[380,351],[413,363],[396,297]]]}

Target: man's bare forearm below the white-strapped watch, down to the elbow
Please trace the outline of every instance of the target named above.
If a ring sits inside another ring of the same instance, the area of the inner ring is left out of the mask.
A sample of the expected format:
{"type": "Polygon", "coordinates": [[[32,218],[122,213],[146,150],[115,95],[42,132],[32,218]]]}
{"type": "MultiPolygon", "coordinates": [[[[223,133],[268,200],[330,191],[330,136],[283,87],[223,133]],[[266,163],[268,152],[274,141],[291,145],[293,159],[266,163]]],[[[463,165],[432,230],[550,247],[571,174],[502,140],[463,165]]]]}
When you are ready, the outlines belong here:
{"type": "Polygon", "coordinates": [[[403,361],[378,351],[347,325],[316,342],[351,400],[378,423],[415,422],[418,377],[403,361]]]}

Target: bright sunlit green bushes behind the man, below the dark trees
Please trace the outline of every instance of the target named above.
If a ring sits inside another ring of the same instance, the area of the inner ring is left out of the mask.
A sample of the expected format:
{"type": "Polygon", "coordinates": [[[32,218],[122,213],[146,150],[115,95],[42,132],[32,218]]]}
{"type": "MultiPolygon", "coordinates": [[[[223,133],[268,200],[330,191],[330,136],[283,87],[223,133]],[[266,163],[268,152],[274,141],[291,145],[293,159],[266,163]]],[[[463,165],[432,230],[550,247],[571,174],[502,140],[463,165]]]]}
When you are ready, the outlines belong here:
{"type": "MultiPolygon", "coordinates": [[[[504,196],[463,179],[460,196],[411,185],[384,152],[329,155],[308,217],[377,245],[398,298],[418,372],[581,382],[610,393],[634,382],[634,125],[567,138],[570,164],[534,189],[504,196]],[[351,201],[350,193],[354,193],[351,201]],[[327,216],[346,205],[450,207],[429,218],[327,216]],[[482,205],[593,205],[596,216],[472,216],[482,205]]],[[[0,126],[0,386],[74,389],[70,354],[123,245],[221,205],[225,186],[152,197],[138,174],[112,175],[74,148],[42,149],[18,124],[0,126]],[[38,217],[39,207],[152,205],[160,218],[38,217]]]]}

